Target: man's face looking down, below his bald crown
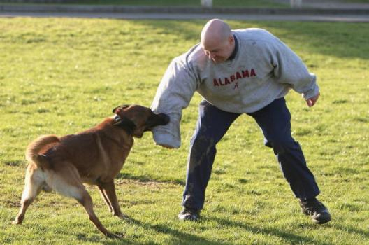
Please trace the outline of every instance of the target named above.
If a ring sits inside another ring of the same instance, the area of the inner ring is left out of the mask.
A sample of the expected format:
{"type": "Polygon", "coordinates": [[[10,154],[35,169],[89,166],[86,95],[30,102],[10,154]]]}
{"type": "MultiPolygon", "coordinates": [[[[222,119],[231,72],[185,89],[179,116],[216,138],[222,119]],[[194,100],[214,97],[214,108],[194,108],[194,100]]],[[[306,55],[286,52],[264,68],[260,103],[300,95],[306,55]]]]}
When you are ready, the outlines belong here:
{"type": "MultiPolygon", "coordinates": [[[[233,39],[232,39],[233,41],[233,39]]],[[[228,38],[222,43],[201,43],[205,55],[214,63],[225,62],[232,54],[233,43],[228,38]]]]}

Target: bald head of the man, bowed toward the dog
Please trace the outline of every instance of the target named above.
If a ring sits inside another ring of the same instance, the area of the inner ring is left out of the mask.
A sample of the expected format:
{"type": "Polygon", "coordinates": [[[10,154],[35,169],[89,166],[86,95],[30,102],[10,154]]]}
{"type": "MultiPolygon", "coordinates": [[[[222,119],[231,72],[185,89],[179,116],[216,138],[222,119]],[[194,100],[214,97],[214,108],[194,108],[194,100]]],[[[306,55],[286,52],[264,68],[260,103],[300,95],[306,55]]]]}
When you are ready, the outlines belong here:
{"type": "Polygon", "coordinates": [[[209,20],[201,31],[201,47],[213,62],[226,61],[234,50],[234,38],[229,25],[223,20],[209,20]]]}

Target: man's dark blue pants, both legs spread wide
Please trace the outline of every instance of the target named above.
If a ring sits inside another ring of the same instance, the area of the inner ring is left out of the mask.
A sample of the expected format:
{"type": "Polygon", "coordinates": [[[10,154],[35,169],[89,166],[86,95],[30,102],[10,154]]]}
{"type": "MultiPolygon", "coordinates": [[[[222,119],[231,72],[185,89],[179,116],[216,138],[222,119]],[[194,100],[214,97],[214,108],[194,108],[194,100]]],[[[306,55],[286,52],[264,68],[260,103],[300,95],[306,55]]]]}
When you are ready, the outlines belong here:
{"type": "MultiPolygon", "coordinates": [[[[217,153],[216,145],[240,113],[217,109],[203,100],[199,105],[196,130],[190,142],[186,186],[182,206],[202,209],[205,189],[208,186],[212,163],[217,153]]],[[[275,99],[252,116],[264,134],[264,143],[273,148],[280,168],[291,190],[298,198],[319,195],[312,172],[307,168],[301,146],[291,137],[291,115],[284,98],[275,99]]]]}

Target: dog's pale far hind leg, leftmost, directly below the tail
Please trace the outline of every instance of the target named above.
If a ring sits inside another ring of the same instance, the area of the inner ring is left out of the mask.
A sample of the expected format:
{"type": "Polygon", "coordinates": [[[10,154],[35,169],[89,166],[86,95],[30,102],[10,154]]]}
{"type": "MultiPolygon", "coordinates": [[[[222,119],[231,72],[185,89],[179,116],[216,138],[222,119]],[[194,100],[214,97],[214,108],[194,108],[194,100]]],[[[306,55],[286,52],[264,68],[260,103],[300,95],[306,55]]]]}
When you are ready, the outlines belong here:
{"type": "Polygon", "coordinates": [[[20,211],[17,217],[12,222],[14,225],[21,224],[27,208],[34,202],[34,199],[40,193],[43,184],[45,183],[45,176],[41,169],[36,165],[29,164],[27,167],[26,178],[24,179],[24,190],[22,199],[20,200],[20,211]]]}

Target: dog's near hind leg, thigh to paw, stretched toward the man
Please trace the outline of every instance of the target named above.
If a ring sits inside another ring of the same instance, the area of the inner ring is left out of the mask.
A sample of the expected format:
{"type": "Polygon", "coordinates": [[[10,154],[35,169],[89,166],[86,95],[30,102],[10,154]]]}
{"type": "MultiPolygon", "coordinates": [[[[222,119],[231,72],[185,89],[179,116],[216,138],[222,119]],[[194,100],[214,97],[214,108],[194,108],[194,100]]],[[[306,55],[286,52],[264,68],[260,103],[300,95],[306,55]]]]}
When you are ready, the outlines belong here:
{"type": "Polygon", "coordinates": [[[94,223],[96,228],[102,232],[103,235],[107,237],[120,237],[106,230],[99,221],[99,218],[97,218],[94,213],[92,198],[89,193],[87,193],[80,179],[80,174],[78,174],[78,170],[73,165],[64,162],[58,165],[55,172],[50,174],[50,176],[50,179],[46,179],[48,186],[51,186],[53,190],[56,190],[61,195],[75,198],[75,200],[82,204],[89,216],[89,220],[94,223]]]}

